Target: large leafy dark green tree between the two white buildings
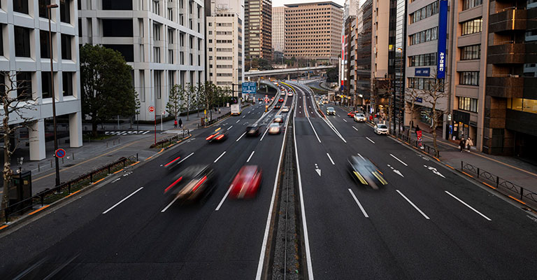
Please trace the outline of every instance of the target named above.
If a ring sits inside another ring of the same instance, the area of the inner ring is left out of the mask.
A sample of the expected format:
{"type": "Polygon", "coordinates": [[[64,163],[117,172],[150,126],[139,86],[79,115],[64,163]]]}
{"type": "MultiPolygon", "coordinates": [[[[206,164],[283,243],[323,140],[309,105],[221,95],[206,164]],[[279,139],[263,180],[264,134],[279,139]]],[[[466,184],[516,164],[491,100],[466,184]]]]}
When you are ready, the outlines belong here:
{"type": "Polygon", "coordinates": [[[97,125],[105,120],[136,113],[131,71],[120,52],[102,45],[86,44],[80,48],[82,112],[91,118],[94,136],[97,125]]]}

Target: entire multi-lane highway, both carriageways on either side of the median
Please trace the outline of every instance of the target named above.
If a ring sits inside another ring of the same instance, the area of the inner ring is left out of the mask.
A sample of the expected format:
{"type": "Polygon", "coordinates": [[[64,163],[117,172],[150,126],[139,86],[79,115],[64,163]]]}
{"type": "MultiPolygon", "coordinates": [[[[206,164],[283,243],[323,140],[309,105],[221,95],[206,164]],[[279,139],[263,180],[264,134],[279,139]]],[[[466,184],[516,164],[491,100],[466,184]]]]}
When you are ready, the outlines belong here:
{"type": "MultiPolygon", "coordinates": [[[[0,278],[263,278],[284,153],[296,160],[304,277],[535,278],[534,216],[436,160],[374,134],[336,106],[336,116],[322,116],[307,87],[280,85],[294,92],[283,102],[294,108],[289,113],[249,106],[241,116],[196,130],[119,179],[11,230],[0,238],[0,278]],[[266,133],[277,114],[284,116],[282,133],[266,133]],[[246,137],[245,127],[254,123],[263,126],[261,135],[246,137]],[[228,132],[227,140],[208,144],[206,137],[218,128],[228,132]],[[293,145],[284,149],[288,134],[293,145]],[[217,172],[206,202],[183,205],[164,196],[176,174],[164,165],[179,152],[179,170],[203,164],[217,172]],[[387,185],[357,185],[348,172],[350,155],[371,160],[387,185]],[[263,170],[252,200],[229,197],[229,184],[243,165],[263,170]]],[[[321,109],[327,106],[333,105],[321,109]]]]}

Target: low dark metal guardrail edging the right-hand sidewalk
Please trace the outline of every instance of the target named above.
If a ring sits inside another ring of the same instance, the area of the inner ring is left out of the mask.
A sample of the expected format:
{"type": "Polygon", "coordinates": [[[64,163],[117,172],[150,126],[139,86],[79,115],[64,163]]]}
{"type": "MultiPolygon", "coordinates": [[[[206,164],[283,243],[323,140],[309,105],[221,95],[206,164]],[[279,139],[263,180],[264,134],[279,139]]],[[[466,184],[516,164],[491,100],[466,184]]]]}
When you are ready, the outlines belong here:
{"type": "Polygon", "coordinates": [[[487,172],[480,167],[476,167],[468,162],[461,161],[461,171],[464,172],[465,170],[475,174],[478,179],[485,179],[489,181],[489,183],[492,183],[493,186],[496,186],[496,190],[503,190],[506,193],[518,195],[520,198],[517,200],[522,202],[537,203],[537,193],[533,193],[522,186],[518,186],[517,184],[507,181],[506,179],[502,179],[501,177],[487,172]]]}

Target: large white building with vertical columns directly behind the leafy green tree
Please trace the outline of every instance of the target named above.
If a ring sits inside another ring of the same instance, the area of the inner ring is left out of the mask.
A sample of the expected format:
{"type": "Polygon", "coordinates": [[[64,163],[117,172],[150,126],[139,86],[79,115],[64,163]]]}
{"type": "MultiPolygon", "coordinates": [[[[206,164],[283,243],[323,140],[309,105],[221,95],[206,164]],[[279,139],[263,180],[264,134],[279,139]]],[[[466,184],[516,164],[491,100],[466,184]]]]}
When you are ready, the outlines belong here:
{"type": "MultiPolygon", "coordinates": [[[[202,0],[81,0],[81,43],[122,53],[134,69],[141,120],[164,113],[175,84],[205,82],[202,0]]],[[[158,118],[158,117],[157,117],[158,118]]]]}

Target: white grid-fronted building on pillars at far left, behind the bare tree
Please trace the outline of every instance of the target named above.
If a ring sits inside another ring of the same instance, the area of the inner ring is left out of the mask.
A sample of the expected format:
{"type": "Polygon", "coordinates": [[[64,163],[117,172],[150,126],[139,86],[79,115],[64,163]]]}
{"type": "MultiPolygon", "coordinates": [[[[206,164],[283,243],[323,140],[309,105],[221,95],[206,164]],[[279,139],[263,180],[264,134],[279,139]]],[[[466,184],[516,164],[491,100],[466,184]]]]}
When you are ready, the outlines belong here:
{"type": "MultiPolygon", "coordinates": [[[[24,112],[25,118],[35,120],[28,130],[30,160],[45,158],[44,120],[52,118],[48,10],[44,2],[0,2],[0,71],[16,74],[17,83],[25,83],[27,92],[32,92],[33,99],[37,101],[35,111],[24,112]]],[[[75,148],[82,146],[77,2],[61,0],[57,3],[59,8],[52,9],[51,13],[56,115],[69,116],[69,143],[75,148]]],[[[8,84],[7,76],[0,77],[4,78],[2,83],[8,84]]],[[[12,113],[10,123],[20,122],[17,114],[12,113]]],[[[49,155],[51,153],[53,151],[49,151],[49,155]]]]}

